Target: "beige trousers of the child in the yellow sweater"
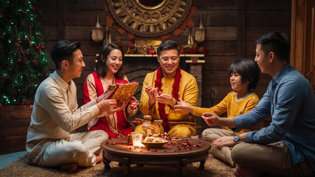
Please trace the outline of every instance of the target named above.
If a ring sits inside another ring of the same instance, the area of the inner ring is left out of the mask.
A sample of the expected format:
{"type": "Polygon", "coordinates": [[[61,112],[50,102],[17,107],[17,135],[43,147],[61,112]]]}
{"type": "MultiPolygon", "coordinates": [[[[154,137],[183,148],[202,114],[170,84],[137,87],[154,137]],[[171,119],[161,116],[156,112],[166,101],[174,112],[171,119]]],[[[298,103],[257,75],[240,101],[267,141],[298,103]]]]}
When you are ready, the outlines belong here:
{"type": "Polygon", "coordinates": [[[231,157],[231,148],[222,147],[221,150],[214,147],[212,144],[213,140],[219,139],[222,136],[235,136],[235,133],[230,130],[219,129],[219,128],[208,128],[202,132],[202,138],[206,141],[209,141],[211,144],[211,148],[209,150],[209,154],[228,162],[230,165],[235,167],[235,163],[231,157]]]}

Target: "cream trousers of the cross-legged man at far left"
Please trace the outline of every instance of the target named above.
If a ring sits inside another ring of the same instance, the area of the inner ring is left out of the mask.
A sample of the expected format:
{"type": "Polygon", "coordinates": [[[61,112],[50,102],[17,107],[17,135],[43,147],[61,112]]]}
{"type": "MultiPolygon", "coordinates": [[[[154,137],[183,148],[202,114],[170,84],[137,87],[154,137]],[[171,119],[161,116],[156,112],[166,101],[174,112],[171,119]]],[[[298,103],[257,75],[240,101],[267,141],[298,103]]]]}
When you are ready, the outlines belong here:
{"type": "MultiPolygon", "coordinates": [[[[70,134],[70,140],[51,142],[42,155],[36,155],[33,164],[45,167],[59,167],[66,163],[77,163],[78,166],[95,166],[96,155],[100,144],[108,140],[103,130],[70,134]]],[[[41,150],[41,151],[42,151],[41,150]]]]}

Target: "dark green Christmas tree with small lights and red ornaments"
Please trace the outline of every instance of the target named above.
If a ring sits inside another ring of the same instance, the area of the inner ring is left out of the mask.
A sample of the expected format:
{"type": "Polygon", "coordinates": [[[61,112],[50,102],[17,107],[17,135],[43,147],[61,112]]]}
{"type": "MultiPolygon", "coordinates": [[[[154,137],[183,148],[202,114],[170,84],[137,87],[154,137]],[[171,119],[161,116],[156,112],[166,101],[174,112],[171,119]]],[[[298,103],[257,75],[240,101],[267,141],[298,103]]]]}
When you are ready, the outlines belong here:
{"type": "Polygon", "coordinates": [[[30,104],[50,63],[35,1],[0,0],[0,106],[30,104]]]}

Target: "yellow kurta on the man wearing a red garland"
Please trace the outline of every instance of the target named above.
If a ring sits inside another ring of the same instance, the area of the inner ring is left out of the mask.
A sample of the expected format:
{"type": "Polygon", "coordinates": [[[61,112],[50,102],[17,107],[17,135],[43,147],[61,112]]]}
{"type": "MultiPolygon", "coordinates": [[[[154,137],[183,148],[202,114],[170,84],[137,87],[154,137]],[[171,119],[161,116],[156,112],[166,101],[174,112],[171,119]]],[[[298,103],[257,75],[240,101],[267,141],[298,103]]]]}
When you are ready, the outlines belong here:
{"type": "MultiPolygon", "coordinates": [[[[198,101],[198,85],[196,79],[193,75],[187,73],[184,70],[181,70],[182,78],[180,83],[180,89],[178,96],[181,100],[185,101],[188,105],[196,106],[198,101]]],[[[173,82],[174,76],[176,72],[170,75],[164,74],[162,77],[162,89],[163,93],[172,95],[173,90],[173,82]]],[[[156,79],[156,70],[154,72],[150,72],[146,74],[143,86],[142,86],[142,93],[140,99],[140,110],[144,115],[150,115],[152,120],[161,119],[158,111],[158,104],[157,101],[153,105],[152,109],[149,110],[148,105],[148,95],[145,92],[145,87],[147,85],[151,85],[154,88],[154,80],[156,79]]],[[[167,105],[165,106],[165,113],[169,114],[169,123],[170,129],[178,124],[185,124],[195,126],[195,120],[193,117],[189,116],[187,111],[176,110],[172,111],[170,107],[167,105]]]]}

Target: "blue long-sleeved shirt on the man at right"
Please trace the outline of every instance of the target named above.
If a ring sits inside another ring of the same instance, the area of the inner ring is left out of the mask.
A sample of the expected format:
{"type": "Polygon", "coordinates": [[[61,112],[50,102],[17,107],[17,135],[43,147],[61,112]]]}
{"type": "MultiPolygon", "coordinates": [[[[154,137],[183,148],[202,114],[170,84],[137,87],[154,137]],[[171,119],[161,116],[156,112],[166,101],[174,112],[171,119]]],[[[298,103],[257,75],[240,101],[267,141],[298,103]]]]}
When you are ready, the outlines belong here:
{"type": "Polygon", "coordinates": [[[249,113],[234,117],[236,131],[251,127],[271,114],[272,122],[246,133],[247,142],[283,142],[292,164],[307,160],[315,170],[315,96],[308,80],[289,64],[268,85],[259,104],[249,113]]]}

